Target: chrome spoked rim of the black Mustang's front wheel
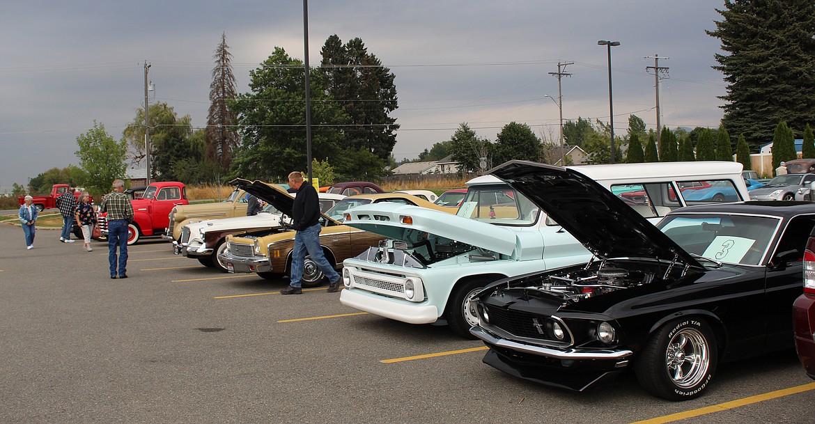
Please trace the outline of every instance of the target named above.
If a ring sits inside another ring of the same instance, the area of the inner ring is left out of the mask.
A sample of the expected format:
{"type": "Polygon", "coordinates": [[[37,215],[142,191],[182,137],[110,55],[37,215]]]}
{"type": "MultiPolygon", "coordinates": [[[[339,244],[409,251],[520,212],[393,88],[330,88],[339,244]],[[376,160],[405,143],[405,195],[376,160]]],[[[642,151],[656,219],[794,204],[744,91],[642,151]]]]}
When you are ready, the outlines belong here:
{"type": "Polygon", "coordinates": [[[665,367],[677,387],[695,387],[707,376],[710,348],[704,335],[685,328],[672,337],[665,352],[665,367]]]}

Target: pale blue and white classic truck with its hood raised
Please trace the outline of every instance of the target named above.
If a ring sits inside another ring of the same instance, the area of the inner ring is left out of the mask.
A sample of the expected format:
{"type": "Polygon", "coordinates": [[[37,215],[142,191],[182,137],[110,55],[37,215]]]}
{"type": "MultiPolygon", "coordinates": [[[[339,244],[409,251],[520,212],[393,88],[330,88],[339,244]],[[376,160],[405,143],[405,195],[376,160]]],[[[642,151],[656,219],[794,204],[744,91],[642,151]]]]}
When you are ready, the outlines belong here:
{"type": "MultiPolygon", "coordinates": [[[[652,222],[688,205],[683,190],[700,182],[729,185],[749,199],[735,162],[574,168],[652,222]]],[[[470,299],[487,283],[589,259],[571,234],[504,181],[487,175],[467,184],[456,215],[385,203],[350,209],[346,225],[388,239],[344,261],[341,303],[412,324],[447,323],[469,338],[478,324],[470,299]]]]}

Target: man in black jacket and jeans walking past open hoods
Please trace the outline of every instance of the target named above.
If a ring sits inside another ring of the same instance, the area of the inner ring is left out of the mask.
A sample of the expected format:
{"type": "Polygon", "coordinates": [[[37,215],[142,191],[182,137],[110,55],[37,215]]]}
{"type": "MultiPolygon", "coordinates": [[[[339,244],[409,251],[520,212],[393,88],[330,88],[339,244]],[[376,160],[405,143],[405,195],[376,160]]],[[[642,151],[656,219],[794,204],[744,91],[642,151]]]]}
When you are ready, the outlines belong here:
{"type": "Polygon", "coordinates": [[[328,278],[328,292],[340,290],[340,274],[328,263],[319,245],[319,199],[317,190],[311,184],[304,184],[302,173],[297,171],[289,173],[289,186],[297,190],[292,207],[294,234],[294,250],[292,252],[292,272],[289,286],[280,290],[281,295],[302,294],[303,267],[306,263],[306,253],[311,256],[315,264],[328,278]]]}

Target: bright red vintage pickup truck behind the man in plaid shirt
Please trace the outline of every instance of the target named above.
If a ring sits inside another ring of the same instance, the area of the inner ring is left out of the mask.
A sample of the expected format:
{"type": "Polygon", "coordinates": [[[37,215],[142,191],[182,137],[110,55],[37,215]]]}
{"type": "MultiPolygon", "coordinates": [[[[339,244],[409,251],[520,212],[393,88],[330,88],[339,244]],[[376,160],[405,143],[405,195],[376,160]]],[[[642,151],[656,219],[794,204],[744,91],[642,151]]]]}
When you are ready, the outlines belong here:
{"type": "MultiPolygon", "coordinates": [[[[178,181],[157,181],[150,184],[133,205],[133,222],[127,229],[127,244],[139,238],[164,234],[170,224],[170,211],[179,204],[188,204],[187,187],[178,181]]],[[[108,237],[107,213],[99,214],[98,225],[103,237],[108,237]]]]}

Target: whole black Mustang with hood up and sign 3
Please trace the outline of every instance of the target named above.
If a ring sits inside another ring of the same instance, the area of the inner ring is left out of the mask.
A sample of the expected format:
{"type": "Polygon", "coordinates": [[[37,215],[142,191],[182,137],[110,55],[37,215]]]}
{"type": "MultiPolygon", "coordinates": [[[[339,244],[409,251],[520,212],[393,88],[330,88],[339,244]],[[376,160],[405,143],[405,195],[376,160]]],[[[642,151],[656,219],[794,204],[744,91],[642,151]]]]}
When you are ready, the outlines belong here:
{"type": "Polygon", "coordinates": [[[470,332],[488,365],[578,391],[632,365],[650,393],[688,400],[720,362],[791,347],[812,203],[694,206],[654,227],[578,170],[513,161],[492,173],[593,259],[475,295],[470,332]]]}

